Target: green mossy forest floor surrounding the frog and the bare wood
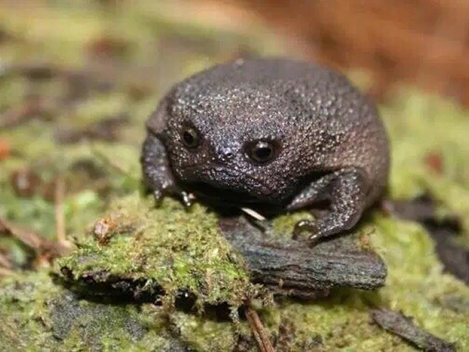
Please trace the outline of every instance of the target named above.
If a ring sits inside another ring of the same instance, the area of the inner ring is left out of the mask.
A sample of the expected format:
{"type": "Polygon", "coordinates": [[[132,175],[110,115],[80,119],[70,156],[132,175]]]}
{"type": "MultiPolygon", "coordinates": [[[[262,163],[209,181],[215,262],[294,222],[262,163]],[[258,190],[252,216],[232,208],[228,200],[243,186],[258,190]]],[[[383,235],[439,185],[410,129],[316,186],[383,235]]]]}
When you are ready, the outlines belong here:
{"type": "MultiPolygon", "coordinates": [[[[380,327],[392,309],[448,341],[439,351],[468,351],[469,112],[390,91],[379,105],[389,191],[355,230],[387,265],[386,284],[274,298],[250,281],[217,213],[154,208],[139,157],[144,122],[173,82],[240,55],[295,54],[262,26],[130,2],[0,9],[1,350],[255,351],[259,321],[277,351],[428,346],[380,327]]],[[[365,71],[347,75],[370,87],[365,71]]],[[[289,233],[295,218],[274,227],[289,233]]]]}

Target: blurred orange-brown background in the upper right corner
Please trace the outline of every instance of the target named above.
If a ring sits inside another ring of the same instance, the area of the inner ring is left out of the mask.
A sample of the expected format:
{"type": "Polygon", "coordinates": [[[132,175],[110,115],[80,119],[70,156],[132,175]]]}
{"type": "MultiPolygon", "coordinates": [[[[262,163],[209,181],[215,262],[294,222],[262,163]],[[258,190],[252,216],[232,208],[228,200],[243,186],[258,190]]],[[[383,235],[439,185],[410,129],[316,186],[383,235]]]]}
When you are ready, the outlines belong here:
{"type": "Polygon", "coordinates": [[[259,16],[301,46],[307,58],[370,69],[371,93],[378,97],[404,81],[469,106],[469,1],[217,2],[259,16]]]}

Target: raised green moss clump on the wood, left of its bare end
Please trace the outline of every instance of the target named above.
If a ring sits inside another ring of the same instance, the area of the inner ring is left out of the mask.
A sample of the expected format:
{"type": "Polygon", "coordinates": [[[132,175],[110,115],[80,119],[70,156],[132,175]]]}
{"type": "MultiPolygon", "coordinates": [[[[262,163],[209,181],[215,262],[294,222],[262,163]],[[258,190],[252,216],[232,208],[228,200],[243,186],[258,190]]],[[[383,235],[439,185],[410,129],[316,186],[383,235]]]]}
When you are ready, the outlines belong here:
{"type": "Polygon", "coordinates": [[[244,261],[220,235],[217,217],[203,206],[190,212],[176,201],[153,200],[138,194],[115,202],[105,221],[112,233],[105,245],[88,238],[80,250],[59,261],[75,278],[85,272],[156,282],[167,294],[193,292],[200,304],[231,302],[256,295],[244,261]]]}

